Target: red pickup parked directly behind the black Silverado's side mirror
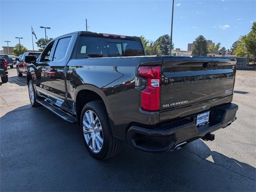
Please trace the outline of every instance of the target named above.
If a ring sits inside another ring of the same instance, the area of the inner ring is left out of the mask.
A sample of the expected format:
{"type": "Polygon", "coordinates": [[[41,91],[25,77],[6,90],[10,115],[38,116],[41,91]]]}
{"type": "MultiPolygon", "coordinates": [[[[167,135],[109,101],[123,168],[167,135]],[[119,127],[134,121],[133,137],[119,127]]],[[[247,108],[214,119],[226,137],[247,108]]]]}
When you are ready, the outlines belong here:
{"type": "Polygon", "coordinates": [[[18,62],[16,63],[16,70],[17,70],[17,75],[20,77],[23,74],[27,74],[27,63],[25,62],[25,56],[27,55],[33,55],[36,56],[36,58],[39,57],[41,52],[25,52],[21,56],[17,58],[18,62]]]}

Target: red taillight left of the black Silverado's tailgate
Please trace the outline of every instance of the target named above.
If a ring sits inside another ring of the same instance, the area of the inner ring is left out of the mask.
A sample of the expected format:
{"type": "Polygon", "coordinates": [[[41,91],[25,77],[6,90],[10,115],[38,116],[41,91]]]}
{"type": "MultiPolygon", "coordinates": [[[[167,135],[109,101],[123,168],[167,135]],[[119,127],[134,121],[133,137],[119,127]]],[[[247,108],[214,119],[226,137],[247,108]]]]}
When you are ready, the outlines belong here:
{"type": "Polygon", "coordinates": [[[147,79],[147,87],[141,91],[141,108],[146,111],[159,110],[161,66],[141,66],[138,74],[147,79]]]}

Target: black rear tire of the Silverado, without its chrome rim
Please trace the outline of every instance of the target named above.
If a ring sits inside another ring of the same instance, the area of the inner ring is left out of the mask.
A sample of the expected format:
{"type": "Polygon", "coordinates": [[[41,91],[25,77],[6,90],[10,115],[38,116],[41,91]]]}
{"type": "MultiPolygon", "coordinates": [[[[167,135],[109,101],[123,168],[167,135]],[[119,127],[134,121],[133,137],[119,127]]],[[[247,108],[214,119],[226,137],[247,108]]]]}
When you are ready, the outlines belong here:
{"type": "Polygon", "coordinates": [[[81,134],[82,138],[84,140],[84,144],[87,148],[87,150],[90,152],[90,154],[98,159],[98,160],[104,160],[111,158],[115,156],[121,149],[121,142],[113,137],[111,127],[109,124],[109,116],[106,112],[106,107],[104,105],[103,101],[92,101],[85,104],[84,108],[82,109],[82,114],[80,118],[80,128],[81,128],[81,134]],[[100,152],[94,153],[89,148],[88,144],[86,143],[86,140],[84,138],[84,132],[83,132],[83,116],[87,110],[92,110],[99,118],[100,124],[102,126],[103,131],[103,144],[100,152]]]}

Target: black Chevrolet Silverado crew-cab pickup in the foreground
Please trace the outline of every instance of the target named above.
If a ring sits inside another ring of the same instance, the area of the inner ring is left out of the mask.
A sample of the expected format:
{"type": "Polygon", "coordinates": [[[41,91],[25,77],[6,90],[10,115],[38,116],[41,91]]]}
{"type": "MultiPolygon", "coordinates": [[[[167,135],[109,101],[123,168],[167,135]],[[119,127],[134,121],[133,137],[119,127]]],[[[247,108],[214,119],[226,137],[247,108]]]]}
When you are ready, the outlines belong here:
{"type": "Polygon", "coordinates": [[[32,106],[78,123],[90,154],[114,156],[121,142],[146,152],[176,150],[236,120],[236,60],[145,56],[141,40],[74,32],[26,56],[32,106]]]}

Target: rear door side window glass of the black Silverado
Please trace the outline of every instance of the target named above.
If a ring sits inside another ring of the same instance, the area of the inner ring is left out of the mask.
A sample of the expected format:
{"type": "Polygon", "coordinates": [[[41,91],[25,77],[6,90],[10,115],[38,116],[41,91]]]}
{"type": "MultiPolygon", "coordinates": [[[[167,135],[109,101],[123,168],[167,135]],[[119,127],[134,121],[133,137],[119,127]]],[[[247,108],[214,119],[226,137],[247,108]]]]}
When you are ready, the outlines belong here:
{"type": "Polygon", "coordinates": [[[70,39],[71,37],[59,39],[54,52],[53,61],[60,61],[66,56],[70,39]]]}

